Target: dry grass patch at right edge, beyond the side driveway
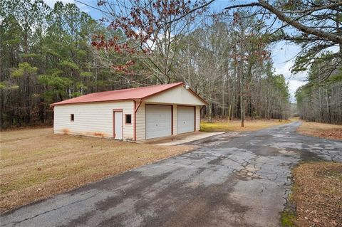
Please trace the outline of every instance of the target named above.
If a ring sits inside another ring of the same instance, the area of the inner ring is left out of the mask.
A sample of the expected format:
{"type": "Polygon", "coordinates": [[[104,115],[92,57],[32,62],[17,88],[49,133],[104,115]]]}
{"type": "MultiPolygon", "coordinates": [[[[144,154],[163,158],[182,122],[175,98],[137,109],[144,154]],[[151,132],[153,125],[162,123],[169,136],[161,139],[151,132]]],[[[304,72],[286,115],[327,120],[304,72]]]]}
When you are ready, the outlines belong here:
{"type": "Polygon", "coordinates": [[[331,125],[318,122],[303,122],[297,132],[314,137],[342,139],[342,125],[331,125]]]}

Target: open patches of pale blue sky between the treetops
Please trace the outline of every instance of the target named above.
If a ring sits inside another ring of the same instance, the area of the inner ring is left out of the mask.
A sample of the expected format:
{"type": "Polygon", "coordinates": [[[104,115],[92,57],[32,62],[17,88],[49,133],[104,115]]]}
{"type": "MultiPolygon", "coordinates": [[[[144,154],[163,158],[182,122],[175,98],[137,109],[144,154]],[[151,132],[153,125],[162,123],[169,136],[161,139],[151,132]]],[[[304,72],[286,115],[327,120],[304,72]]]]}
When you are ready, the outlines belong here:
{"type": "MultiPolygon", "coordinates": [[[[53,7],[53,4],[57,0],[45,0],[46,3],[53,7]]],[[[85,11],[90,16],[93,17],[93,19],[100,19],[102,17],[102,14],[100,11],[97,11],[95,9],[92,9],[84,4],[80,4],[73,0],[60,0],[64,3],[74,3],[76,4],[82,11],[85,11]]],[[[80,0],[88,5],[96,6],[97,1],[96,0],[80,0]]],[[[235,1],[236,3],[247,3],[249,0],[243,0],[243,1],[235,1]]],[[[213,11],[223,11],[224,7],[228,6],[229,4],[232,4],[232,1],[228,0],[216,0],[211,5],[211,9],[213,11]]],[[[286,81],[289,83],[289,91],[291,93],[291,102],[295,102],[294,93],[296,92],[296,89],[299,88],[299,86],[304,85],[306,73],[299,73],[297,75],[291,75],[290,69],[293,65],[294,58],[297,53],[299,53],[300,47],[295,46],[291,43],[285,43],[285,42],[279,42],[274,45],[273,51],[272,51],[272,59],[274,60],[274,68],[276,73],[283,74],[286,78],[286,81]]]]}

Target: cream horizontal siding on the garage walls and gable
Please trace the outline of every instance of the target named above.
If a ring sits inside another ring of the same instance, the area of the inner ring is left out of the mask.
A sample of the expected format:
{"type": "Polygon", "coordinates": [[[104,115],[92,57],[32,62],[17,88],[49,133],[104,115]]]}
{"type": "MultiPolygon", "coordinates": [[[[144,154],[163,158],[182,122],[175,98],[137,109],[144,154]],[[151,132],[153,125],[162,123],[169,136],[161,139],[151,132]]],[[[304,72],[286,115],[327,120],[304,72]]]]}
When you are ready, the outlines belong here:
{"type": "MultiPolygon", "coordinates": [[[[139,100],[136,100],[136,105],[138,104],[139,100]]],[[[177,105],[196,106],[196,130],[199,130],[199,109],[205,103],[183,86],[179,86],[142,100],[136,116],[133,100],[56,105],[54,107],[54,131],[60,134],[113,138],[113,109],[123,109],[123,116],[132,115],[132,124],[126,125],[123,122],[123,139],[134,139],[134,126],[136,140],[147,139],[145,105],[148,104],[172,105],[174,135],[177,134],[177,105]],[[73,122],[71,122],[71,114],[75,118],[73,122]],[[134,125],[135,119],[136,125],[134,125]]]]}

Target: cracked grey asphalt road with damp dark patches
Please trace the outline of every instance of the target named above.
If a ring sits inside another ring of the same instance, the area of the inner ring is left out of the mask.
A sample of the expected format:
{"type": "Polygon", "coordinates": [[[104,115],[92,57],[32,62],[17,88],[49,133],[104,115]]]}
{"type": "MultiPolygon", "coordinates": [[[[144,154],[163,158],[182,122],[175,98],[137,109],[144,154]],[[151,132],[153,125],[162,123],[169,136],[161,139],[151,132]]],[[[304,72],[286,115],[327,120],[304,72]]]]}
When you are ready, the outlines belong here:
{"type": "Polygon", "coordinates": [[[1,226],[279,226],[300,160],[342,162],[342,142],[299,122],[192,142],[199,149],[1,215],[1,226]]]}

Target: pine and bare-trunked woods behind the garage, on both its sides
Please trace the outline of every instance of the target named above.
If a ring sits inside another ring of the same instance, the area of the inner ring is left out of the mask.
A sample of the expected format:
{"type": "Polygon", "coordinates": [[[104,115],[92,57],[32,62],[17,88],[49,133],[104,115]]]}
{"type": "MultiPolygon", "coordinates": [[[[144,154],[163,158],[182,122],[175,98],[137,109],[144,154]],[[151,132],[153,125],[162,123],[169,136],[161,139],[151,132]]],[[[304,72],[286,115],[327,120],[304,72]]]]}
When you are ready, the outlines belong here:
{"type": "MultiPolygon", "coordinates": [[[[267,51],[266,44],[257,44],[262,50],[254,46],[262,39],[261,34],[254,36],[261,29],[253,28],[256,19],[237,26],[232,21],[208,23],[186,35],[180,33],[170,78],[158,80],[142,58],[94,47],[91,43],[98,34],[125,39],[125,33],[107,29],[75,4],[57,2],[51,9],[43,1],[6,1],[1,17],[1,128],[51,124],[53,110],[48,105],[52,102],[175,81],[185,81],[209,102],[203,114],[210,118],[289,116],[284,76],[273,73],[270,58],[259,59],[258,51],[267,51]],[[241,38],[248,59],[239,69],[241,63],[232,56],[239,52],[235,45],[241,38]],[[130,71],[118,70],[115,65],[125,65],[128,58],[135,61],[130,71]]],[[[154,54],[161,58],[160,53],[154,54]]]]}

